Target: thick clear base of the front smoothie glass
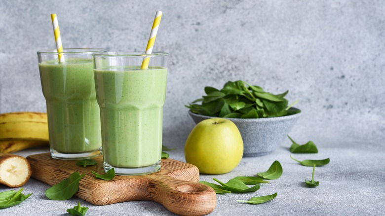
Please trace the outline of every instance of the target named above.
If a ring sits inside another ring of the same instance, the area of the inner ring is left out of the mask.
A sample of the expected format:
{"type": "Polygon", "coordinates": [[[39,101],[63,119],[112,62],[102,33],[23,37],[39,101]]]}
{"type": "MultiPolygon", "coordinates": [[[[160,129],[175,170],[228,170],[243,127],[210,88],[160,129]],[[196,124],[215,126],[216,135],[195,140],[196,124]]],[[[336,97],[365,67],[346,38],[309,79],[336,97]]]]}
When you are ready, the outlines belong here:
{"type": "Polygon", "coordinates": [[[104,162],[104,172],[115,169],[115,174],[118,176],[140,176],[150,173],[154,173],[160,170],[160,160],[153,165],[146,167],[134,167],[134,168],[125,168],[125,167],[114,167],[110,164],[104,162]]]}

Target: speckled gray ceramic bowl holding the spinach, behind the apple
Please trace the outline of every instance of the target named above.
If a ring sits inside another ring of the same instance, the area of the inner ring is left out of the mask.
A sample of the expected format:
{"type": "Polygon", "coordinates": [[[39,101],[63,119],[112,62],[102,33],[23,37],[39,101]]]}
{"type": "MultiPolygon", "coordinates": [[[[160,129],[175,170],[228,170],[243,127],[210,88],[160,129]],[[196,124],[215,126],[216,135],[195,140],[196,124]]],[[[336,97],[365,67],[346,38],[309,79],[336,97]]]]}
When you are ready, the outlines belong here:
{"type": "MultiPolygon", "coordinates": [[[[294,108],[297,109],[297,108],[294,108]]],[[[216,118],[192,113],[192,120],[197,124],[202,120],[216,118]]],[[[289,134],[301,116],[301,112],[271,118],[227,118],[238,127],[243,139],[243,157],[255,157],[277,149],[289,134]]]]}

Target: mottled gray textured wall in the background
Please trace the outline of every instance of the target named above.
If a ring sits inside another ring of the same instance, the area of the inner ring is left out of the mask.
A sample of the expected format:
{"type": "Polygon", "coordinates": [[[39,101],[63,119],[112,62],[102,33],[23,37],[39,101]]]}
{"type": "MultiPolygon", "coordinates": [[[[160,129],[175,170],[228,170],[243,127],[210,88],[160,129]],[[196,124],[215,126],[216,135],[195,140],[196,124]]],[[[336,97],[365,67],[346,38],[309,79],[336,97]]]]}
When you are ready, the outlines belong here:
{"type": "Polygon", "coordinates": [[[36,52],[65,47],[170,53],[164,142],[183,145],[185,104],[204,86],[243,79],[290,90],[303,116],[291,135],[319,145],[385,138],[385,3],[382,0],[0,0],[0,112],[45,111],[36,52]]]}

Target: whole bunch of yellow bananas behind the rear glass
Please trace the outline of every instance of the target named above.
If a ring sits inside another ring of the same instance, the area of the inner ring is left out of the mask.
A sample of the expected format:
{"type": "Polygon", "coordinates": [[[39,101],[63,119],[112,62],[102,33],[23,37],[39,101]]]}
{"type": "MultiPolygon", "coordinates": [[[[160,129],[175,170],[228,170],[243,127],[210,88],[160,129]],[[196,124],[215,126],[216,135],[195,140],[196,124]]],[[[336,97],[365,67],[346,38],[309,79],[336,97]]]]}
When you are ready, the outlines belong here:
{"type": "Polygon", "coordinates": [[[47,113],[0,114],[0,152],[11,153],[42,145],[49,145],[47,113]]]}

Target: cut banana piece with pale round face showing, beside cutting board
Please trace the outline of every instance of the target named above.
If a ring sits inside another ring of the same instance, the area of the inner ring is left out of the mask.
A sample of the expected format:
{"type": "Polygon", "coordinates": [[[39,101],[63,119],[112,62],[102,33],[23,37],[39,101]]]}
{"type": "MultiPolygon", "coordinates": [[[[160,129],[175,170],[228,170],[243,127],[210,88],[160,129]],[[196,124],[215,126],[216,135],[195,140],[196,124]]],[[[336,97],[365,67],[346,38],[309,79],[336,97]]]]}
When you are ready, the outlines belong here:
{"type": "Polygon", "coordinates": [[[20,187],[32,174],[30,163],[22,156],[0,153],[0,183],[20,187]]]}

